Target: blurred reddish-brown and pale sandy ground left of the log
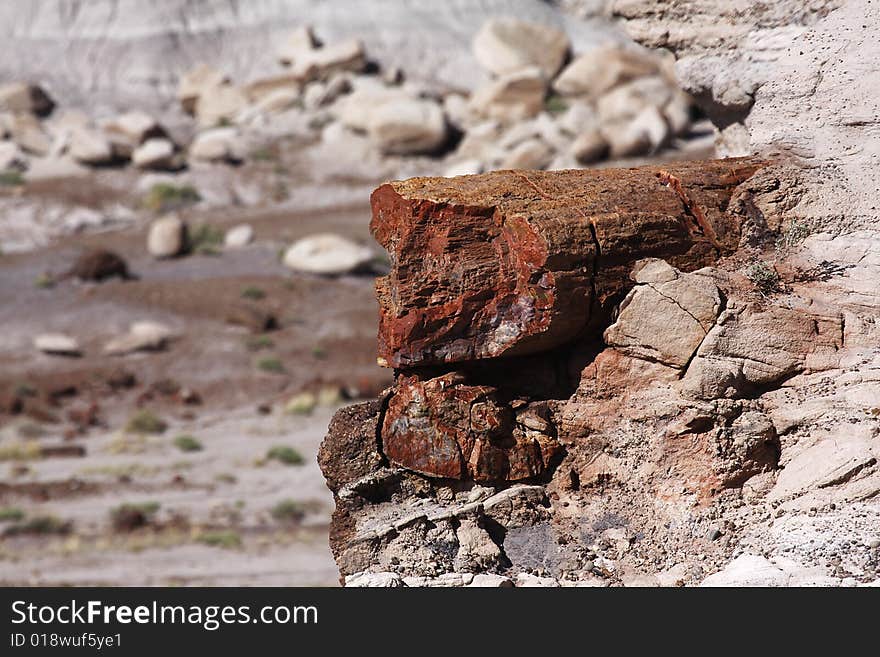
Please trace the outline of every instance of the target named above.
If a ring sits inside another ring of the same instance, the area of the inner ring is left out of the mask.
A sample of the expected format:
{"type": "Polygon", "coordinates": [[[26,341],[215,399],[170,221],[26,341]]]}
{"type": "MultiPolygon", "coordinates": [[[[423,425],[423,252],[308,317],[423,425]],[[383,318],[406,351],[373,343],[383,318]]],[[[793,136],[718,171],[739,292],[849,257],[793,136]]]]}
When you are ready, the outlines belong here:
{"type": "MultiPolygon", "coordinates": [[[[16,202],[101,208],[112,196],[136,207],[135,179],[126,193],[128,174],[103,175],[114,180],[112,195],[99,175],[41,181],[16,202]]],[[[337,584],[332,498],[315,457],[335,408],[390,380],[375,364],[373,277],[294,274],[278,254],[315,232],[368,242],[367,195],[359,196],[357,205],[342,194],[337,205],[306,210],[184,210],[191,225],[253,226],[252,245],[217,255],[152,259],[151,215],[135,210],[112,230],[0,256],[0,584],[337,584]],[[137,279],[36,284],[93,247],[121,255],[137,279]],[[246,298],[246,289],[263,298],[246,298]],[[267,315],[276,330],[241,324],[267,315]],[[159,352],[102,353],[138,320],[162,322],[176,337],[159,352]],[[36,351],[44,332],[75,336],[83,356],[36,351]],[[267,358],[283,371],[261,369],[267,358]],[[316,407],[285,410],[303,391],[316,407]],[[139,410],[165,430],[127,430],[139,410]],[[180,435],[202,449],[182,451],[180,435]],[[267,458],[276,446],[295,449],[302,464],[267,458]],[[123,504],[155,510],[140,526],[114,526],[123,504]]]]}

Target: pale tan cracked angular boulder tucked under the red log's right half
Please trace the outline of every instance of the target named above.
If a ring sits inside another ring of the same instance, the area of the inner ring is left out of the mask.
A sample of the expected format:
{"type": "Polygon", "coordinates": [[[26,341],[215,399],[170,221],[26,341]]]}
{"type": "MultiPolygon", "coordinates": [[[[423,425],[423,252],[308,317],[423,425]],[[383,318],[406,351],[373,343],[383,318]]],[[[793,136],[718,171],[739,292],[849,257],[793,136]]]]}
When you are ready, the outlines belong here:
{"type": "Polygon", "coordinates": [[[715,323],[721,294],[708,276],[681,274],[663,261],[647,269],[645,277],[636,274],[640,284],[620,303],[605,343],[636,358],[683,368],[715,323]]]}

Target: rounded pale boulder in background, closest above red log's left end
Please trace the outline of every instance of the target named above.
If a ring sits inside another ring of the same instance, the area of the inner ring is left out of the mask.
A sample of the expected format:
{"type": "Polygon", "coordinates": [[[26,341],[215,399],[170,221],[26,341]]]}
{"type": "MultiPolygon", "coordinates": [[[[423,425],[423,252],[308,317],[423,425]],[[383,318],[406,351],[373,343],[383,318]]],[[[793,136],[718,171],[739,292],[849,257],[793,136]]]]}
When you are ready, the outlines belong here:
{"type": "Polygon", "coordinates": [[[446,141],[446,117],[433,101],[408,98],[367,112],[367,134],[383,153],[431,153],[446,141]]]}

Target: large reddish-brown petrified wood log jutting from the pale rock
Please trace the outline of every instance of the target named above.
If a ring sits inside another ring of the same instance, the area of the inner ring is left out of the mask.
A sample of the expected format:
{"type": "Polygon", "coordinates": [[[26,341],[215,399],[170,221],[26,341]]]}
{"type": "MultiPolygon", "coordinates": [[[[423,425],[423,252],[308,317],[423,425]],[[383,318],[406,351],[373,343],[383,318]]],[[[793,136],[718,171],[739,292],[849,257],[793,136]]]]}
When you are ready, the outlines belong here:
{"type": "Polygon", "coordinates": [[[534,353],[576,337],[635,260],[693,270],[733,251],[727,212],[761,163],[412,178],[373,192],[379,362],[395,368],[534,353]]]}

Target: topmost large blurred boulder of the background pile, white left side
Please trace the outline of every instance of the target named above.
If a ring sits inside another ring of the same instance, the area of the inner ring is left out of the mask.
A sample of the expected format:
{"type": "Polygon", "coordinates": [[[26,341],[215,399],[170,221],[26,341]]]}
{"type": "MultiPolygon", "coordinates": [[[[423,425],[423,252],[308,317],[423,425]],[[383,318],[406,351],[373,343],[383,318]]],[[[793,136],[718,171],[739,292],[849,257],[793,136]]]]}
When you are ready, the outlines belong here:
{"type": "Polygon", "coordinates": [[[517,18],[487,20],[473,40],[474,56],[494,75],[537,67],[550,79],[559,71],[569,49],[565,32],[517,18]]]}

